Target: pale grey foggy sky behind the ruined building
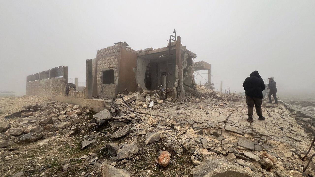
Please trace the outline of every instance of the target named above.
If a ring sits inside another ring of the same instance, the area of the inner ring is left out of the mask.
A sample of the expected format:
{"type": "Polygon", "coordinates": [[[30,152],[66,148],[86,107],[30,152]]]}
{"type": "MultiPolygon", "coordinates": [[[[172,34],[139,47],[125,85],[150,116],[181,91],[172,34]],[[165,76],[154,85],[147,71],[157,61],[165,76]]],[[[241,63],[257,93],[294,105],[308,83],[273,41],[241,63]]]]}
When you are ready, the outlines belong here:
{"type": "Polygon", "coordinates": [[[97,50],[119,41],[162,48],[175,28],[196,61],[211,64],[215,89],[222,81],[223,90],[241,92],[257,70],[275,78],[280,97],[314,97],[314,8],[315,1],[288,0],[1,0],[0,90],[23,95],[27,75],[60,65],[85,82],[85,60],[97,50]]]}

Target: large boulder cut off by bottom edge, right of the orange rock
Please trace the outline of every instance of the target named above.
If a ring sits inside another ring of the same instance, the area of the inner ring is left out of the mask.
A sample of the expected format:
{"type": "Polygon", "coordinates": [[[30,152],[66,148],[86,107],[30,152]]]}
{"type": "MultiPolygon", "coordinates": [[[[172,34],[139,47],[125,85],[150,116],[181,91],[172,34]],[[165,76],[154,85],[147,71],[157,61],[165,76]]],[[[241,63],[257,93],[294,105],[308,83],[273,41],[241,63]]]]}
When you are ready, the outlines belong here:
{"type": "Polygon", "coordinates": [[[241,168],[226,161],[224,158],[211,159],[207,157],[203,159],[201,165],[192,169],[193,177],[217,177],[217,176],[233,176],[233,177],[255,177],[249,168],[241,168]]]}

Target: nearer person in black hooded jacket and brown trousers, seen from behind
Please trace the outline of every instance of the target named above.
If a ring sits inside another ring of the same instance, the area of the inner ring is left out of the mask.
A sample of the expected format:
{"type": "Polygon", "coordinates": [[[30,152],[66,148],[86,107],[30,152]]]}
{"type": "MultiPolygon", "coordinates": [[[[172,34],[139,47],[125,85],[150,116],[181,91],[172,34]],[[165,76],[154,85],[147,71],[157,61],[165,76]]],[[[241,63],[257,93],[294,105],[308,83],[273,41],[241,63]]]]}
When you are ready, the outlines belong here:
{"type": "Polygon", "coordinates": [[[253,121],[254,105],[256,108],[256,113],[258,115],[258,120],[265,120],[262,116],[261,104],[262,104],[262,91],[265,90],[266,86],[258,71],[250,73],[243,83],[245,90],[246,104],[247,104],[247,115],[248,122],[253,121]]]}

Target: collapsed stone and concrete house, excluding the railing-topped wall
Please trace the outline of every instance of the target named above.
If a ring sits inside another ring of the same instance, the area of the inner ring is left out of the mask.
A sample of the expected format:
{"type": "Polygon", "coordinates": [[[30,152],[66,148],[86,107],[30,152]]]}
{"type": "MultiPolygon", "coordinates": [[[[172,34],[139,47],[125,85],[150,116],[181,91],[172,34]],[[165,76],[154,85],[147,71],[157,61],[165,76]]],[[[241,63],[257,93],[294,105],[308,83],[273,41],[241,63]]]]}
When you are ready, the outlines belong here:
{"type": "MultiPolygon", "coordinates": [[[[115,43],[98,50],[93,59],[96,76],[93,96],[115,98],[125,89],[129,92],[139,88],[161,90],[167,85],[169,96],[174,101],[181,101],[185,98],[184,86],[194,88],[196,85],[193,75],[193,59],[196,57],[181,44],[181,37],[168,43],[167,47],[154,50],[135,51],[127,43],[115,43]]],[[[198,70],[206,69],[211,73],[211,65],[204,61],[197,62],[196,66],[198,70]]]]}

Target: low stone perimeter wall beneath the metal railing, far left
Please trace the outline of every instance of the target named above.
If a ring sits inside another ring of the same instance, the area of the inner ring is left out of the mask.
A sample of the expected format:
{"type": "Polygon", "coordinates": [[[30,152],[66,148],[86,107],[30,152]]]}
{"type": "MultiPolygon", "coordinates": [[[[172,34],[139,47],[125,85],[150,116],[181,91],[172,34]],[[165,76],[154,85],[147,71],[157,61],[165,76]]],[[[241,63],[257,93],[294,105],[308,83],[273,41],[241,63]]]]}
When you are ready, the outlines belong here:
{"type": "Polygon", "coordinates": [[[59,95],[66,94],[63,77],[26,82],[26,95],[59,95]]]}

